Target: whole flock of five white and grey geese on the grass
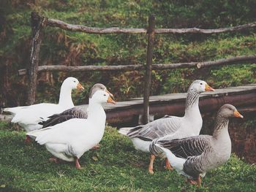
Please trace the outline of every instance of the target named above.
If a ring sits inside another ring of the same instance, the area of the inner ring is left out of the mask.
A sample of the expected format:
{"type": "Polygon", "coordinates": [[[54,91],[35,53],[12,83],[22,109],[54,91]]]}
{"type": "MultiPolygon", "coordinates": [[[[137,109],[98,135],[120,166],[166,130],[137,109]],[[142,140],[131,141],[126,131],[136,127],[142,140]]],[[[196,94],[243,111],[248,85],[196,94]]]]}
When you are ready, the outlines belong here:
{"type": "MultiPolygon", "coordinates": [[[[105,85],[95,84],[89,92],[86,112],[74,107],[72,89],[84,89],[75,77],[68,77],[61,85],[59,104],[34,104],[24,107],[5,108],[26,134],[26,142],[34,139],[45,145],[53,155],[50,161],[75,161],[80,169],[79,158],[90,149],[99,147],[104,131],[106,115],[104,103],[116,104],[113,94],[105,85]]],[[[187,177],[189,183],[200,186],[201,177],[209,169],[224,164],[231,153],[228,123],[232,117],[243,116],[231,104],[223,105],[217,112],[214,134],[199,135],[203,124],[198,107],[199,95],[214,91],[205,81],[195,80],[187,91],[183,117],[168,116],[146,125],[120,128],[119,133],[131,139],[137,150],[150,153],[148,172],[153,174],[154,159],[165,158],[166,169],[176,169],[187,177]]]]}

